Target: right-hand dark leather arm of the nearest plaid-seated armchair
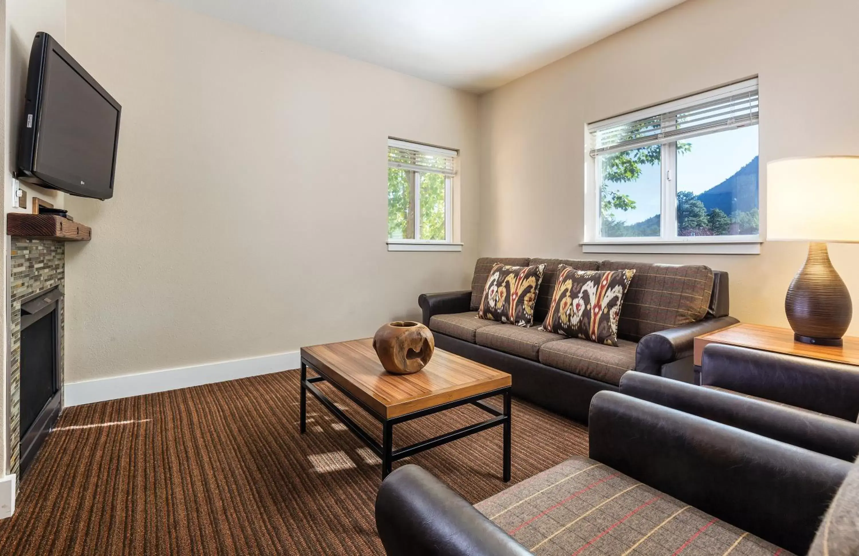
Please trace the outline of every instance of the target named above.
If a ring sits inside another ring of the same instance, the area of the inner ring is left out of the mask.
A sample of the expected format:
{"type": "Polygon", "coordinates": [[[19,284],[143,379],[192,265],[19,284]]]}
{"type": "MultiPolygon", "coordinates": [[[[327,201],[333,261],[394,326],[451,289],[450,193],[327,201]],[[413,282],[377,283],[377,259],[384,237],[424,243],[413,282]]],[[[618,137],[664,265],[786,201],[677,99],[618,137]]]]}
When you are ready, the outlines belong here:
{"type": "Polygon", "coordinates": [[[594,396],[590,457],[804,554],[852,465],[617,392],[594,396]]]}

